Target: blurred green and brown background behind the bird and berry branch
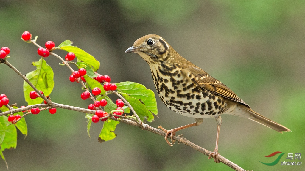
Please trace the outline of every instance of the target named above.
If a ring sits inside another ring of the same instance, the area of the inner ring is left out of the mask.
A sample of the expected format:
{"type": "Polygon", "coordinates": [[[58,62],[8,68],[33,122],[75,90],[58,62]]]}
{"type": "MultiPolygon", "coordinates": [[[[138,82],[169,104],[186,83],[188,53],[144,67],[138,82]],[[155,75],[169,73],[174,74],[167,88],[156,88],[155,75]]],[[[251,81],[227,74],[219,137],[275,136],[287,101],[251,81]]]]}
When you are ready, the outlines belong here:
{"type": "MultiPolygon", "coordinates": [[[[137,54],[124,54],[146,34],[158,34],[179,54],[230,87],[255,111],[288,127],[278,132],[251,120],[222,116],[219,153],[246,170],[304,170],[305,165],[305,1],[294,0],[0,0],[0,47],[11,49],[8,61],[26,74],[35,69],[37,47],[21,34],[38,35],[59,45],[66,39],[101,62],[99,73],[112,82],[134,81],[156,93],[149,66],[137,54]],[[303,166],[275,166],[272,152],[303,153],[303,166]]],[[[64,57],[63,51],[55,53],[64,57]]],[[[52,101],[86,108],[80,85],[57,58],[45,59],[54,71],[52,101]]],[[[0,65],[0,93],[11,103],[27,105],[23,80],[0,65]]],[[[163,105],[150,125],[166,129],[192,123],[163,105]]],[[[91,139],[83,113],[58,109],[26,117],[28,136],[18,134],[15,150],[5,150],[9,170],[231,170],[182,144],[138,127],[119,124],[117,138],[98,143],[102,123],[92,124],[91,139]]],[[[204,119],[179,131],[199,146],[213,150],[217,124],[204,119]]],[[[6,170],[0,160],[0,170],[6,170]]]]}

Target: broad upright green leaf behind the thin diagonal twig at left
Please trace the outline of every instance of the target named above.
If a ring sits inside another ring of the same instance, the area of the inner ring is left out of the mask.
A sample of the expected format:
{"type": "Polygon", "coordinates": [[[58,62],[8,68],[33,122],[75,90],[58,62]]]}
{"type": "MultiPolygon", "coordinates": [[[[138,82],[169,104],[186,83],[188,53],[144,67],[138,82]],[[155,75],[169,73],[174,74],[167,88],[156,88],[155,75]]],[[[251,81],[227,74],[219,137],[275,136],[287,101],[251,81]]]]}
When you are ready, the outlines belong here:
{"type": "MultiPolygon", "coordinates": [[[[39,61],[33,62],[33,65],[36,66],[37,69],[27,73],[27,79],[29,79],[38,90],[44,92],[45,96],[50,95],[54,87],[54,73],[52,68],[43,58],[39,61]]],[[[41,103],[43,101],[41,98],[36,98],[34,100],[30,98],[31,91],[33,91],[32,87],[30,87],[27,82],[23,81],[23,93],[27,104],[33,105],[41,103]]]]}

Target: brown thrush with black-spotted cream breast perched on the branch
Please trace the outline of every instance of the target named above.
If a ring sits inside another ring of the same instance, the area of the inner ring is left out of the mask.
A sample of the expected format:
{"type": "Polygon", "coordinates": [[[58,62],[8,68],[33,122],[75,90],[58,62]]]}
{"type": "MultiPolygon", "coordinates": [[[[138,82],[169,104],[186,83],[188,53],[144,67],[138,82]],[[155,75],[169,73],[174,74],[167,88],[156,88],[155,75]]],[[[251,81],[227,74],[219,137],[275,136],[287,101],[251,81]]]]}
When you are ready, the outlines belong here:
{"type": "Polygon", "coordinates": [[[203,123],[203,118],[213,117],[217,123],[216,145],[208,159],[218,160],[218,140],[221,115],[245,117],[265,125],[275,131],[290,131],[287,127],[274,122],[252,110],[231,89],[213,78],[192,62],[183,58],[162,37],[156,34],[143,36],[129,47],[126,53],[139,54],[149,65],[152,79],[161,101],[175,113],[195,118],[195,122],[166,130],[165,140],[172,146],[177,131],[203,123]],[[168,141],[170,134],[171,142],[168,141]]]}

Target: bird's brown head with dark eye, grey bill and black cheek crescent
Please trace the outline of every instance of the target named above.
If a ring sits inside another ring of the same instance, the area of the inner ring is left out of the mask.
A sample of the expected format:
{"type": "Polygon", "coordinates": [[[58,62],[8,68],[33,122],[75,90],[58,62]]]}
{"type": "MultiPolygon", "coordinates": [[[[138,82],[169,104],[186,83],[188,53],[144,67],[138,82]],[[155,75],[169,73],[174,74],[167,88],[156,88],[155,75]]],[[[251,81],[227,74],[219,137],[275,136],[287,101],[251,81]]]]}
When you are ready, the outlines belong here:
{"type": "Polygon", "coordinates": [[[132,47],[129,47],[126,53],[139,54],[148,64],[162,62],[167,59],[170,45],[160,36],[149,34],[135,41],[132,47]]]}

